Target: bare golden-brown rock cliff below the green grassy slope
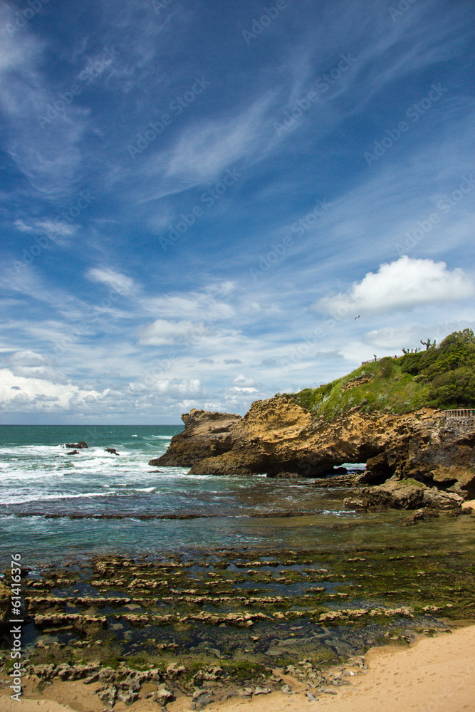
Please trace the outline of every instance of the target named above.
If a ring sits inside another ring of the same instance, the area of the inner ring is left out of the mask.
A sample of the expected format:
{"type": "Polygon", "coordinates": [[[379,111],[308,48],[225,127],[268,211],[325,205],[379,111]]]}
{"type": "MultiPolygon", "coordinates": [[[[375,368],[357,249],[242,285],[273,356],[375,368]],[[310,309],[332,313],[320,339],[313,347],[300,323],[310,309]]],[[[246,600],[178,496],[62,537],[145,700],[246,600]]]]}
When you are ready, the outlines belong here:
{"type": "Polygon", "coordinates": [[[475,496],[475,419],[353,409],[315,420],[291,397],[254,402],[244,417],[192,410],[185,429],[152,465],[191,466],[194,474],[319,477],[343,462],[366,462],[365,481],[414,478],[475,496]]]}

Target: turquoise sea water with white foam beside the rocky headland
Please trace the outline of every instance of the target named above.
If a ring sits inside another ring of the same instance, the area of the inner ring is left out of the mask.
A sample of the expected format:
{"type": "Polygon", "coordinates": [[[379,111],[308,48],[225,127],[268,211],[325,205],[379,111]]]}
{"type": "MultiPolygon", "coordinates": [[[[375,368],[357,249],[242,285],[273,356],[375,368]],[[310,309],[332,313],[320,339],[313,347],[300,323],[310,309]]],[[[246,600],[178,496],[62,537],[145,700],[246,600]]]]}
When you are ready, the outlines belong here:
{"type": "MultiPolygon", "coordinates": [[[[348,511],[341,491],[311,481],[192,476],[188,468],[150,466],[181,430],[0,426],[0,565],[12,553],[28,566],[103,553],[338,547],[401,536],[404,513],[348,511]],[[88,449],[67,455],[64,445],[80,440],[88,449]]],[[[434,526],[424,525],[417,537],[430,545],[434,526]]],[[[456,523],[447,527],[450,540],[456,523]]]]}

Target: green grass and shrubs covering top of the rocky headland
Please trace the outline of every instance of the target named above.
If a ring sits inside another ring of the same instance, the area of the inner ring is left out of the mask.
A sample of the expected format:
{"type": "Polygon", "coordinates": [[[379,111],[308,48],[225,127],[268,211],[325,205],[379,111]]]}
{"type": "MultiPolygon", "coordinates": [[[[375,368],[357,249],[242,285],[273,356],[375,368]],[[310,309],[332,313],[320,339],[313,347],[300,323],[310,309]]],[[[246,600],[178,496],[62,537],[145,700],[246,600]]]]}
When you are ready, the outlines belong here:
{"type": "Polygon", "coordinates": [[[324,386],[292,395],[316,417],[327,420],[357,406],[363,412],[387,413],[421,407],[474,408],[474,332],[456,331],[424,351],[382,358],[324,386]]]}

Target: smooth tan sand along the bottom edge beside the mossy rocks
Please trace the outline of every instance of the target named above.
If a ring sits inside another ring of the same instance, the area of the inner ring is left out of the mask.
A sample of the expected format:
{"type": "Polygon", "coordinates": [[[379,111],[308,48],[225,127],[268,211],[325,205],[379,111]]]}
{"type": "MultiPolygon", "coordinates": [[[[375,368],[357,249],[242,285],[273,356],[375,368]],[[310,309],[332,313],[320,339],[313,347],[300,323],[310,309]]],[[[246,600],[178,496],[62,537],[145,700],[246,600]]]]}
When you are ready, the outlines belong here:
{"type": "MultiPolygon", "coordinates": [[[[318,693],[318,702],[309,700],[298,683],[295,693],[274,692],[253,698],[231,698],[209,712],[288,712],[328,710],[330,712],[461,712],[475,711],[475,626],[454,629],[434,638],[422,637],[410,648],[384,646],[366,656],[367,670],[348,674],[351,685],[318,693]],[[336,692],[336,694],[334,693],[336,692]]],[[[7,683],[8,684],[8,683],[7,683]]],[[[3,712],[103,712],[105,706],[93,695],[95,685],[80,681],[55,681],[38,695],[30,687],[20,702],[10,700],[1,689],[3,712]]],[[[145,691],[146,692],[146,691],[145,691]]],[[[119,702],[115,712],[152,712],[160,706],[139,699],[132,706],[119,702]]],[[[167,705],[169,712],[192,709],[189,698],[177,698],[167,705]]]]}

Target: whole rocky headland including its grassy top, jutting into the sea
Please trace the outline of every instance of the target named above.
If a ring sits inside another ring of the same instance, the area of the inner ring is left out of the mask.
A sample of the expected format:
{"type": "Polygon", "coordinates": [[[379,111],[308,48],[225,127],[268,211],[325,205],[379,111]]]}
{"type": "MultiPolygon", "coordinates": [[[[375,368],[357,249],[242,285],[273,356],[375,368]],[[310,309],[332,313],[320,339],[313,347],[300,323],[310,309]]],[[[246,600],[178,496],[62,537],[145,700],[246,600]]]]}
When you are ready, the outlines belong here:
{"type": "Polygon", "coordinates": [[[475,497],[475,336],[465,329],[424,343],[423,352],[363,362],[331,383],[256,401],[244,417],[192,409],[150,465],[317,479],[365,464],[362,476],[343,480],[370,486],[348,506],[459,508],[475,497]]]}

